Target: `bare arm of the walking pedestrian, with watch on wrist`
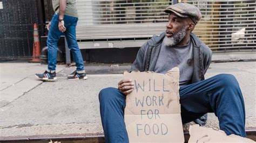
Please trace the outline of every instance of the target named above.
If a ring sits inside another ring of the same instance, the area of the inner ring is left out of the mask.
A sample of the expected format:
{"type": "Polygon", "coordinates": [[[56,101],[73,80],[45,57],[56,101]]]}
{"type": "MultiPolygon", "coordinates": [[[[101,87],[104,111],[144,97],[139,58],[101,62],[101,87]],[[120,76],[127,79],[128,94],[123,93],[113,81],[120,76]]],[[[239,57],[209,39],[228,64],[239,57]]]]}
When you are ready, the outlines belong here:
{"type": "Polygon", "coordinates": [[[64,15],[66,10],[66,0],[59,1],[59,31],[65,32],[66,27],[64,26],[64,15]]]}

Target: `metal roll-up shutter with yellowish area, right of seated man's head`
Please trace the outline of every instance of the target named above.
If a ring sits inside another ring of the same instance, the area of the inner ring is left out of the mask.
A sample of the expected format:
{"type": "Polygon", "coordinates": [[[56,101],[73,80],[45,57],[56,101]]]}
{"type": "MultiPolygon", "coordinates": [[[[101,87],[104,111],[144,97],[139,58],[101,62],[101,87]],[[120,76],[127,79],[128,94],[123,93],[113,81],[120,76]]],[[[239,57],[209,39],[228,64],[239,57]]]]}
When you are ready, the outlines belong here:
{"type": "Polygon", "coordinates": [[[181,1],[198,6],[203,18],[194,29],[212,51],[254,51],[256,47],[255,0],[181,1]]]}

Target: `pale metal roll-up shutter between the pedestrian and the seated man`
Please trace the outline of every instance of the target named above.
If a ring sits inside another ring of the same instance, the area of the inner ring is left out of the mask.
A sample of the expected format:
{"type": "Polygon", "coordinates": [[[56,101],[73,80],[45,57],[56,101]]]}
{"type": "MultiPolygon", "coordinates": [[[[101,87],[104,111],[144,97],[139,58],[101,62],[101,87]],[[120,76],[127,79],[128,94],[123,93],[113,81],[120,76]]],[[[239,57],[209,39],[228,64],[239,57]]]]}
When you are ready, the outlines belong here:
{"type": "Polygon", "coordinates": [[[165,31],[164,9],[171,4],[168,0],[77,0],[78,44],[80,48],[139,47],[165,31]]]}

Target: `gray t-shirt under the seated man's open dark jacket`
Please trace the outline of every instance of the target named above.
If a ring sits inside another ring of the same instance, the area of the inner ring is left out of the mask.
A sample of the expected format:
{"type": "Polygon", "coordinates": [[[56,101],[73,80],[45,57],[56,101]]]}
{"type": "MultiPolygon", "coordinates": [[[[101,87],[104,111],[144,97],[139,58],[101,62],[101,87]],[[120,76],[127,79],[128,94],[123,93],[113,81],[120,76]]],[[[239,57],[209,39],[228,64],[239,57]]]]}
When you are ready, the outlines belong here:
{"type": "Polygon", "coordinates": [[[191,83],[193,74],[193,53],[192,43],[188,42],[185,46],[167,47],[162,42],[160,53],[157,59],[154,71],[156,73],[166,74],[170,69],[178,67],[180,70],[179,85],[191,83]]]}

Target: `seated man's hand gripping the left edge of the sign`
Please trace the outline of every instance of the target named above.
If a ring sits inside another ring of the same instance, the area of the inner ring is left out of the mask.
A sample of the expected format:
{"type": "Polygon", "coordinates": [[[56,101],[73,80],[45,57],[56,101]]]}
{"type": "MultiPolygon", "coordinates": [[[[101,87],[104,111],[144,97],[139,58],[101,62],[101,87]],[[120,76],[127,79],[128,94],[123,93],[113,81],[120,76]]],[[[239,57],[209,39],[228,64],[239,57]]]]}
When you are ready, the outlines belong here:
{"type": "Polygon", "coordinates": [[[124,95],[130,94],[134,88],[132,80],[124,79],[118,83],[118,90],[121,91],[124,95]]]}

